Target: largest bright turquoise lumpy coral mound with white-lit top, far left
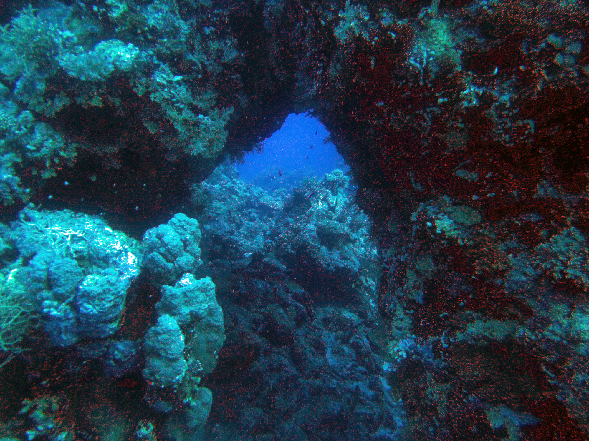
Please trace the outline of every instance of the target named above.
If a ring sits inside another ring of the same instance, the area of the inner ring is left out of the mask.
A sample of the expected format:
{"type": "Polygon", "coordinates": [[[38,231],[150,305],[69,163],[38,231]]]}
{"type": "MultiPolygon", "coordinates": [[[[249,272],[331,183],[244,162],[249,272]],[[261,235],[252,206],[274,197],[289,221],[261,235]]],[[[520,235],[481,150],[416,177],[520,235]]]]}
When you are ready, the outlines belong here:
{"type": "Polygon", "coordinates": [[[117,332],[127,289],[140,273],[137,242],[98,216],[68,210],[27,208],[11,226],[6,239],[20,254],[9,267],[11,289],[25,288],[22,305],[42,313],[54,345],[117,332]]]}

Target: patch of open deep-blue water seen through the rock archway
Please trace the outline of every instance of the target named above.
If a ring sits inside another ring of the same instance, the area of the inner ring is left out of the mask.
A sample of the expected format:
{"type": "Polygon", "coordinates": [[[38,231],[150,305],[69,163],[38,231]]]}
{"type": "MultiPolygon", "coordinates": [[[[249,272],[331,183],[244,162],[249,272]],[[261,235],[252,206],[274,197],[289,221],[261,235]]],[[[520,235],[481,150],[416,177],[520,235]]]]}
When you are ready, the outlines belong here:
{"type": "Polygon", "coordinates": [[[249,153],[245,163],[236,164],[240,178],[274,191],[297,186],[310,176],[320,179],[336,168],[348,171],[335,145],[324,142],[328,136],[317,119],[291,113],[282,128],[263,142],[263,153],[249,153]]]}

